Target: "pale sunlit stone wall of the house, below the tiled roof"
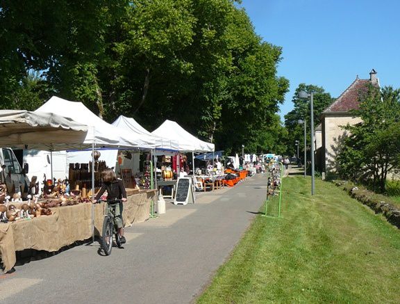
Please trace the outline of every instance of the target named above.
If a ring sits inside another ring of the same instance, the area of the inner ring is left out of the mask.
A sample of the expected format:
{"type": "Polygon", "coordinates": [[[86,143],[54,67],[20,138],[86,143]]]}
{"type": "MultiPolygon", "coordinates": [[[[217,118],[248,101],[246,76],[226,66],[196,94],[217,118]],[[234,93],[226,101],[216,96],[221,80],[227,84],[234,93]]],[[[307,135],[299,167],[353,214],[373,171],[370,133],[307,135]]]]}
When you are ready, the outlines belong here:
{"type": "Polygon", "coordinates": [[[338,143],[345,132],[340,126],[356,125],[360,118],[351,117],[325,117],[325,168],[326,173],[335,173],[335,158],[338,153],[338,143]]]}

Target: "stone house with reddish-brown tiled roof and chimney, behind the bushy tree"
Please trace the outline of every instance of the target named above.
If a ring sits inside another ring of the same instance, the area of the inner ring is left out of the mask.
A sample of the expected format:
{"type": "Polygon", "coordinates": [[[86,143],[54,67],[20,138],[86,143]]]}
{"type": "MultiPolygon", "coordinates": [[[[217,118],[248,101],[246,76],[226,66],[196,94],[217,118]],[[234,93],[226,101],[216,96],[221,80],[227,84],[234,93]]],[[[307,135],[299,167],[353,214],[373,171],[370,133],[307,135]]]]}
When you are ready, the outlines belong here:
{"type": "MultiPolygon", "coordinates": [[[[327,178],[335,175],[335,158],[338,153],[338,144],[347,132],[340,126],[356,125],[361,122],[360,118],[353,117],[349,111],[359,108],[360,94],[367,90],[370,83],[374,86],[379,86],[375,70],[369,73],[369,79],[359,79],[357,76],[349,88],[344,90],[333,104],[322,112],[320,147],[316,145],[316,166],[326,174],[327,178]]],[[[318,132],[319,128],[317,127],[316,135],[318,132]]]]}

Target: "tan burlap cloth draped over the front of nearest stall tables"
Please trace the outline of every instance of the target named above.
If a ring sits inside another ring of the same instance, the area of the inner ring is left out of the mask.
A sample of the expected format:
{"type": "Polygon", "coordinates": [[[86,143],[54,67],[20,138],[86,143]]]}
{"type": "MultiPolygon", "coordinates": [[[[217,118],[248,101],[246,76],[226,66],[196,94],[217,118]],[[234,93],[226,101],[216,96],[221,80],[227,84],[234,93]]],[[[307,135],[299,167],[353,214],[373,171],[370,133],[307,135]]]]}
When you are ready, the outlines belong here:
{"type": "MultiPolygon", "coordinates": [[[[129,193],[127,189],[127,193],[129,193]]],[[[146,221],[150,215],[151,200],[156,190],[142,190],[128,195],[122,216],[124,225],[146,221]]],[[[94,207],[94,234],[100,235],[103,227],[105,203],[94,207]]],[[[0,256],[4,272],[15,265],[15,252],[25,249],[54,252],[75,241],[92,237],[92,204],[52,208],[50,216],[0,224],[0,256]]]]}

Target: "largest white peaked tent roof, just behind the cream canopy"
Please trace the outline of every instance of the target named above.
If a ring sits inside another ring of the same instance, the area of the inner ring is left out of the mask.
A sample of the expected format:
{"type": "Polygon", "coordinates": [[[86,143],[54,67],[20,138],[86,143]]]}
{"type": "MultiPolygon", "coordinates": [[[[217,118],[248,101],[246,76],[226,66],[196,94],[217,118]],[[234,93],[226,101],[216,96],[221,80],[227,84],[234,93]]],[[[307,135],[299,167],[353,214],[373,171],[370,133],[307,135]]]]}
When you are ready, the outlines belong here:
{"type": "Polygon", "coordinates": [[[144,134],[131,134],[119,129],[92,113],[81,102],[70,102],[68,100],[53,96],[45,104],[35,111],[49,112],[72,118],[76,122],[88,125],[88,134],[82,143],[76,145],[76,149],[86,148],[94,144],[103,147],[138,147],[154,149],[156,147],[151,136],[144,134]]]}

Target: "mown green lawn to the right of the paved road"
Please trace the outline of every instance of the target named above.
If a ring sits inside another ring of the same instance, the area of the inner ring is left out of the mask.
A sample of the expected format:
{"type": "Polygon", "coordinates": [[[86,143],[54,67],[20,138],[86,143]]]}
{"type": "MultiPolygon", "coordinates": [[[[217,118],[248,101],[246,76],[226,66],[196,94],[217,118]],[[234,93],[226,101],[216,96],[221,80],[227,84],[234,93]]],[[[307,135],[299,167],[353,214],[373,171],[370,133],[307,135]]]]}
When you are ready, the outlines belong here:
{"type": "MultiPolygon", "coordinates": [[[[333,184],[287,177],[198,303],[399,303],[400,231],[333,184]]],[[[263,210],[263,209],[262,209],[263,210]]]]}

